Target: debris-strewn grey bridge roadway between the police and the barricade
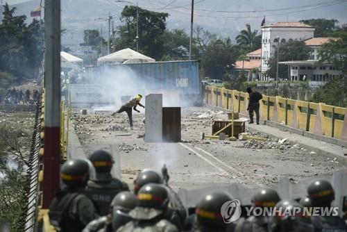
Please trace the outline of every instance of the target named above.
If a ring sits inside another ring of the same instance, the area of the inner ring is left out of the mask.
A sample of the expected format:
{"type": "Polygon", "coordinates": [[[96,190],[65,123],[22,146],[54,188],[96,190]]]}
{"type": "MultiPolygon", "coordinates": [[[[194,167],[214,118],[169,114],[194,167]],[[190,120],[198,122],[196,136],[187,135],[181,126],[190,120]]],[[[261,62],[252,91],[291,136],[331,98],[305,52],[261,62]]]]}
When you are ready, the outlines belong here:
{"type": "MultiPolygon", "coordinates": [[[[72,122],[85,154],[113,147],[123,181],[132,185],[141,169],[160,171],[165,164],[171,187],[181,189],[181,195],[188,190],[186,200],[189,202],[197,201],[205,191],[221,188],[248,203],[253,190],[263,185],[283,192],[283,188],[278,187],[282,178],[290,180],[290,197],[303,197],[312,179],[331,179],[332,172],[346,169],[341,163],[330,162],[325,156],[310,154],[289,143],[282,148],[274,145],[264,149],[253,145],[242,147],[244,141],[200,140],[202,132],[211,133],[212,117],[226,117],[209,110],[183,109],[183,142],[179,143],[144,142],[143,113],[134,115],[133,131],[129,130],[125,113],[115,117],[111,117],[110,112],[76,113],[72,115],[72,122]],[[202,114],[207,117],[198,118],[202,114]]],[[[271,142],[276,144],[277,140],[267,141],[271,142]]]]}

